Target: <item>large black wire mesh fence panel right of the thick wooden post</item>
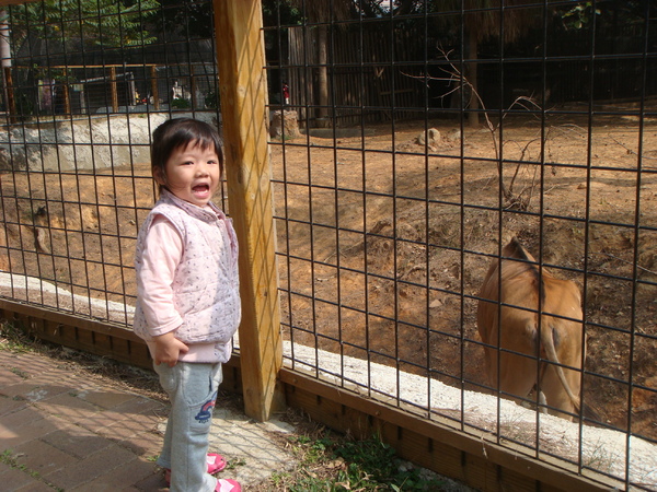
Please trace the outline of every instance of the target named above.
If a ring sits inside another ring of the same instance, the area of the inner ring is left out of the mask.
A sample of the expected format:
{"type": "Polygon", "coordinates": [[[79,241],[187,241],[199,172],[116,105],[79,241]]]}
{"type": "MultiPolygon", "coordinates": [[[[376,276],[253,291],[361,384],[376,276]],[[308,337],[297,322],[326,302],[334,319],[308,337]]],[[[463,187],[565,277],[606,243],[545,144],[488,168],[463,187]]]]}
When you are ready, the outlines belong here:
{"type": "Polygon", "coordinates": [[[289,363],[653,488],[652,5],[328,3],[265,30],[289,363]]]}

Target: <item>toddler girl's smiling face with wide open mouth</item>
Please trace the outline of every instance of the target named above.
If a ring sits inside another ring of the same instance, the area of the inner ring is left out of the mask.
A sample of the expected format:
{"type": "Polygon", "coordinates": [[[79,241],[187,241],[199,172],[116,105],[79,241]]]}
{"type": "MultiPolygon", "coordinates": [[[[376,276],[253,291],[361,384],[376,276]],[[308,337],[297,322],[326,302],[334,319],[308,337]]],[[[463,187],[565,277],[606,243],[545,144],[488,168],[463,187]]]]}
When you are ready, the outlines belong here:
{"type": "Polygon", "coordinates": [[[157,173],[158,184],[182,200],[205,207],[219,188],[221,171],[214,147],[201,149],[197,141],[174,149],[164,167],[165,176],[157,173]]]}

